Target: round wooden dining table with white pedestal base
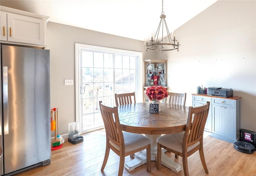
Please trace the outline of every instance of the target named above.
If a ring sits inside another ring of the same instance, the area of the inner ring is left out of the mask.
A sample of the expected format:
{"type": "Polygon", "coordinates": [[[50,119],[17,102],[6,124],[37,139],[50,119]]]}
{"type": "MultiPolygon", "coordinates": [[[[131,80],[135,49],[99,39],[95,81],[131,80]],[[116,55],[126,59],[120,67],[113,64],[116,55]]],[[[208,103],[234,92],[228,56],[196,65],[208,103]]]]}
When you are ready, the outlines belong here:
{"type": "MultiPolygon", "coordinates": [[[[188,119],[188,107],[174,104],[160,104],[159,113],[150,113],[150,103],[134,103],[118,106],[118,115],[122,130],[145,134],[151,139],[151,160],[156,161],[156,139],[162,134],[183,132],[188,119]]],[[[125,164],[128,171],[146,163],[146,152],[125,164]]],[[[162,164],[178,173],[180,164],[171,160],[162,152],[162,164]]]]}

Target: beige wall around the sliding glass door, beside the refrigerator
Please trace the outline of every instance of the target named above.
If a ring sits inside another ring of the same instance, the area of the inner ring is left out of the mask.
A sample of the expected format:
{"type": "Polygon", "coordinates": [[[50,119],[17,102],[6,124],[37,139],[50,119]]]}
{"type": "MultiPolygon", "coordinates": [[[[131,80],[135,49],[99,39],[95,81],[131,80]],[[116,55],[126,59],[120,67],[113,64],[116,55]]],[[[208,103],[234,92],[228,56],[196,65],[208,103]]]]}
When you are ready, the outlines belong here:
{"type": "Polygon", "coordinates": [[[76,121],[75,82],[73,86],[64,86],[64,79],[75,80],[75,43],[144,50],[143,41],[48,22],[46,49],[50,50],[51,107],[59,108],[60,134],[67,134],[68,124],[76,121]]]}

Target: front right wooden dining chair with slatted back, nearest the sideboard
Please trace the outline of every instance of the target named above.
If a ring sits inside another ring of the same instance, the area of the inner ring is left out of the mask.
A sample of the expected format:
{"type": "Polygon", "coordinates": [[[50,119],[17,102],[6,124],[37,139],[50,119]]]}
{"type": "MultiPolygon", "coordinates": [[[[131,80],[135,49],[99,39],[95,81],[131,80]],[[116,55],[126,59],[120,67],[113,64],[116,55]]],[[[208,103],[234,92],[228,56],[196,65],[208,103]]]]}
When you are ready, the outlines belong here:
{"type": "Polygon", "coordinates": [[[160,170],[162,148],[164,148],[182,157],[184,174],[185,176],[188,176],[188,156],[199,150],[204,171],[208,174],[208,169],[204,159],[203,134],[209,107],[210,102],[196,108],[190,106],[185,131],[175,134],[165,134],[156,140],[157,170],[160,170]]]}

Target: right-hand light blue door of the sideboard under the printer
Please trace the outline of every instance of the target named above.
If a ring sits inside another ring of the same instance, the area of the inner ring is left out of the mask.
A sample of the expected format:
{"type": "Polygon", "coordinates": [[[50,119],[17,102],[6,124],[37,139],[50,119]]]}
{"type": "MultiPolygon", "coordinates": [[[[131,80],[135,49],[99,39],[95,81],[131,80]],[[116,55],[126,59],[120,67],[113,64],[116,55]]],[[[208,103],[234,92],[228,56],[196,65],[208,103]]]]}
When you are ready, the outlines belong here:
{"type": "Polygon", "coordinates": [[[212,105],[212,132],[236,140],[236,109],[212,105]]]}

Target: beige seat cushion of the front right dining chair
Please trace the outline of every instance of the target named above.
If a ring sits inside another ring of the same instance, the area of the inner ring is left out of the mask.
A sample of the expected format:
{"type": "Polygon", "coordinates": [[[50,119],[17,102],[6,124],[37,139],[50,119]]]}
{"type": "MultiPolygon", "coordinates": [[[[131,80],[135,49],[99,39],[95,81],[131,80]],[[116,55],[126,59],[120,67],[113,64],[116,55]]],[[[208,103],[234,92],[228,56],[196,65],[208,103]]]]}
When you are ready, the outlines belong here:
{"type": "MultiPolygon", "coordinates": [[[[156,141],[177,152],[182,153],[182,142],[183,142],[184,132],[175,133],[175,134],[165,134],[164,136],[159,137],[156,141]]],[[[188,151],[192,150],[196,146],[198,146],[200,142],[196,142],[192,146],[188,147],[188,151]]]]}

